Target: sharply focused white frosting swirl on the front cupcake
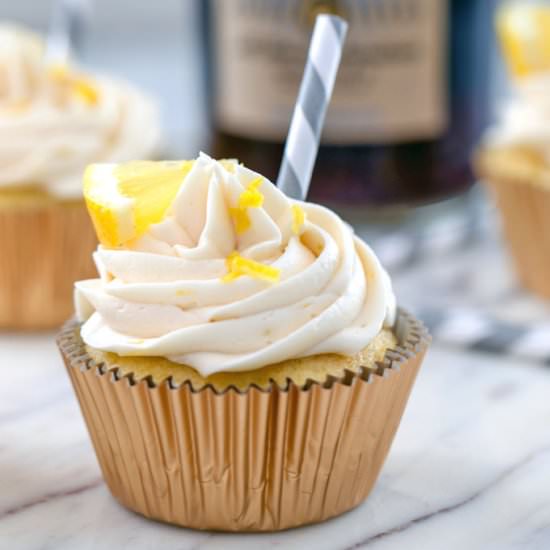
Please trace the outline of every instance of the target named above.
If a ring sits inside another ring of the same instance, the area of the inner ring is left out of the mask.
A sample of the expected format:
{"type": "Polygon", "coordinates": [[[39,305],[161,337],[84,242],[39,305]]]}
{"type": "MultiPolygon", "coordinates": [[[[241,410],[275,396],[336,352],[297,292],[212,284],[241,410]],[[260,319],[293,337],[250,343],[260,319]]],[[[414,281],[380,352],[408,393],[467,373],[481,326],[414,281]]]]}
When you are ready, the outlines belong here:
{"type": "Polygon", "coordinates": [[[120,355],[163,356],[207,376],[351,355],[393,325],[387,273],[330,210],[293,201],[262,178],[263,204],[247,209],[250,227],[237,233],[231,209],[258,177],[201,155],[164,221],[128,249],[99,247],[101,278],[76,284],[84,341],[120,355]],[[306,215],[299,224],[296,206],[306,215]],[[224,281],[234,251],[279,270],[279,280],[224,281]]]}

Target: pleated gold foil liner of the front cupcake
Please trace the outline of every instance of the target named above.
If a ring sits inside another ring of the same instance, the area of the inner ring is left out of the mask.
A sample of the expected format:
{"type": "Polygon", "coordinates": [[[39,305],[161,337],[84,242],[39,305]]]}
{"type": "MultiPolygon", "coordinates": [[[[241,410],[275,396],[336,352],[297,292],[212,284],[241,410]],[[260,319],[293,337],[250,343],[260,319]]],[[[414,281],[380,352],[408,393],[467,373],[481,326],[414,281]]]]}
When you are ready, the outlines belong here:
{"type": "Polygon", "coordinates": [[[124,506],[196,529],[272,531],[337,516],[369,494],[429,343],[401,310],[395,333],[399,345],[376,369],[221,392],[107,371],[75,321],[58,345],[124,506]]]}

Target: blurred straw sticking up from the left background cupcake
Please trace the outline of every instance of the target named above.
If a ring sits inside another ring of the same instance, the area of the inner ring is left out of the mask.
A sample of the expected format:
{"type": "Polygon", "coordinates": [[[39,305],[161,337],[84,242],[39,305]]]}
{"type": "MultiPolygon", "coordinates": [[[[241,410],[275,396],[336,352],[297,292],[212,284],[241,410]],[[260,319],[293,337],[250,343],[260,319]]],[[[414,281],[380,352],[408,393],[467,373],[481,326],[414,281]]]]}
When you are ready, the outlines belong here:
{"type": "Polygon", "coordinates": [[[78,47],[90,11],[88,0],[55,0],[46,44],[49,63],[66,64],[78,47]]]}

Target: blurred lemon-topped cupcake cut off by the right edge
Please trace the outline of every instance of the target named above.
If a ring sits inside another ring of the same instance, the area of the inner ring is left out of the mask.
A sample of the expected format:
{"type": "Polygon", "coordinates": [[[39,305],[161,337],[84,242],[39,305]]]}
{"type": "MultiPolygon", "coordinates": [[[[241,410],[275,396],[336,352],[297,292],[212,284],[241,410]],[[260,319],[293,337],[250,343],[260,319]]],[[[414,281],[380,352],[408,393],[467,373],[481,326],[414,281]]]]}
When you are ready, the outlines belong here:
{"type": "Polygon", "coordinates": [[[550,299],[550,5],[508,2],[496,24],[513,94],[475,163],[521,282],[550,299]]]}

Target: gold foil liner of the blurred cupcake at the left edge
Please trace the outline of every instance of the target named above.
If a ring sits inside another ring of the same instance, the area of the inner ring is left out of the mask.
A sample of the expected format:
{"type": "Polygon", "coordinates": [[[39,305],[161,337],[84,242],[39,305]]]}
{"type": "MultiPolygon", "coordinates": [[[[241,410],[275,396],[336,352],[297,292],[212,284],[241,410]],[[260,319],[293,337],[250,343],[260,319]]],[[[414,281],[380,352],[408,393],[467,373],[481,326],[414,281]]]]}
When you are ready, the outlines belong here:
{"type": "Polygon", "coordinates": [[[74,282],[94,276],[96,246],[83,201],[0,208],[0,328],[60,326],[74,282]]]}

